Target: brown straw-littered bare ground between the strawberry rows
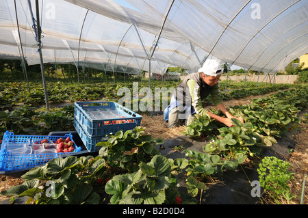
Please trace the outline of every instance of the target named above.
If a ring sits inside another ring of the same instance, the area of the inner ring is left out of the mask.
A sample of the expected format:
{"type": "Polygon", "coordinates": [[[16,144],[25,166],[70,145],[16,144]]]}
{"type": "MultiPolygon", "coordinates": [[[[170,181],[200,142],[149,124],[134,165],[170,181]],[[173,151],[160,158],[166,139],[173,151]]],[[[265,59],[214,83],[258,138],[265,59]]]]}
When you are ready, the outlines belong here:
{"type": "MultiPolygon", "coordinates": [[[[264,97],[264,95],[243,98],[240,100],[227,100],[224,101],[224,105],[226,107],[232,107],[234,105],[248,105],[251,103],[251,99],[258,97],[264,97]]],[[[303,118],[305,113],[307,113],[307,109],[305,111],[302,111],[302,113],[300,113],[299,115],[299,117],[301,118],[300,120],[304,120],[303,122],[300,122],[300,127],[294,129],[293,131],[290,131],[290,133],[288,133],[279,140],[281,141],[281,143],[284,142],[285,144],[287,144],[286,148],[292,148],[292,152],[290,154],[287,154],[287,152],[285,152],[284,159],[286,159],[291,164],[290,171],[294,173],[294,179],[290,181],[290,190],[292,195],[296,195],[296,197],[292,198],[290,202],[286,202],[285,200],[283,200],[281,202],[282,204],[300,204],[300,196],[303,189],[303,180],[305,178],[305,175],[308,174],[308,122],[306,118],[303,118]]],[[[164,122],[162,113],[158,113],[155,115],[142,114],[142,127],[145,127],[146,133],[149,133],[154,138],[162,138],[164,140],[181,137],[183,136],[181,134],[181,131],[185,131],[184,126],[179,126],[172,129],[168,128],[166,122],[164,122]]],[[[275,152],[275,149],[277,148],[272,149],[275,152]]],[[[18,176],[15,177],[11,175],[0,175],[0,191],[8,189],[9,187],[20,185],[22,183],[23,180],[18,176]]],[[[304,204],[308,204],[307,183],[305,186],[304,204]]],[[[10,197],[8,196],[0,195],[0,201],[8,200],[9,198],[10,197]]],[[[276,204],[275,202],[270,201],[266,203],[276,204]]]]}

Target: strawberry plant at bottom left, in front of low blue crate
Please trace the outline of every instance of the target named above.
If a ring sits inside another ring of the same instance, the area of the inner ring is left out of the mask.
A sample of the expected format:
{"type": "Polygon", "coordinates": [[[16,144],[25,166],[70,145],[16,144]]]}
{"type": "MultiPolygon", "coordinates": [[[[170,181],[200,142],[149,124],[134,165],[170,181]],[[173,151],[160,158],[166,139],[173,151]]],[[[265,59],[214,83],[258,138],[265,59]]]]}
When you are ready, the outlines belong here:
{"type": "Polygon", "coordinates": [[[107,178],[101,156],[68,156],[49,161],[24,174],[22,185],[2,191],[2,195],[28,196],[35,204],[99,204],[101,187],[97,180],[107,178]],[[54,189],[51,190],[51,184],[54,189]]]}

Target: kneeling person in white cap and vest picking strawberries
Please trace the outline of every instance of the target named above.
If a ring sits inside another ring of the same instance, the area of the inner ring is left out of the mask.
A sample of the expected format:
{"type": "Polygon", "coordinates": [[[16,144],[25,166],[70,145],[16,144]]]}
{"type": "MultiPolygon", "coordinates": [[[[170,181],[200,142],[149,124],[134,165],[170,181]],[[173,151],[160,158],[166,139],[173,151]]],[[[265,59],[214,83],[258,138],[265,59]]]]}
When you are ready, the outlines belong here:
{"type": "Polygon", "coordinates": [[[169,128],[180,126],[183,123],[188,126],[195,119],[195,114],[209,115],[209,117],[225,124],[233,126],[232,118],[244,123],[243,118],[237,118],[222,104],[218,81],[223,73],[220,62],[215,59],[207,59],[198,72],[185,77],[182,83],[172,93],[170,105],[164,110],[164,120],[169,128]],[[220,117],[209,112],[202,101],[211,94],[211,100],[218,110],[226,117],[220,117]]]}

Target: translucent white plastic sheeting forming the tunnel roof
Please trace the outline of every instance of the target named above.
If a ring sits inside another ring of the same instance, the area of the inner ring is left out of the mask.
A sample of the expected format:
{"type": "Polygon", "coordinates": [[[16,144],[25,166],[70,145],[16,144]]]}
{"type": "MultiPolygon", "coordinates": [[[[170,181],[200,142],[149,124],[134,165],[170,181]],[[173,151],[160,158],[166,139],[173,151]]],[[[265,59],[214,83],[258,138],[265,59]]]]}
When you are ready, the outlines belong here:
{"type": "MultiPolygon", "coordinates": [[[[30,2],[0,0],[0,58],[40,64],[30,2]]],[[[194,72],[215,57],[273,73],[308,50],[307,0],[38,2],[44,63],[162,74],[166,66],[194,72]]]]}

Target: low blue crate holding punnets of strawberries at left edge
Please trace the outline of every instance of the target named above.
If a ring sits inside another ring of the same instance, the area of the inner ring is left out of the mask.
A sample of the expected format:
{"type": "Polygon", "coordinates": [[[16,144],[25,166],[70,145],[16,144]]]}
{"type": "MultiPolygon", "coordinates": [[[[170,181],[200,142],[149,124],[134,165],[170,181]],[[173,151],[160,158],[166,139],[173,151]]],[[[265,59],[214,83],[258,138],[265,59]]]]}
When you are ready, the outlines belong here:
{"type": "Polygon", "coordinates": [[[14,135],[6,131],[3,135],[3,140],[0,150],[0,171],[10,172],[16,170],[30,169],[43,165],[52,159],[59,156],[67,156],[75,152],[81,151],[81,148],[76,146],[73,152],[55,152],[55,147],[52,144],[34,144],[36,141],[47,139],[49,142],[55,142],[57,139],[70,137],[73,141],[71,133],[64,136],[51,136],[51,135],[14,135]],[[38,148],[34,150],[34,146],[38,148]]]}

